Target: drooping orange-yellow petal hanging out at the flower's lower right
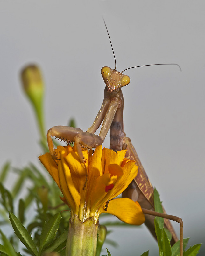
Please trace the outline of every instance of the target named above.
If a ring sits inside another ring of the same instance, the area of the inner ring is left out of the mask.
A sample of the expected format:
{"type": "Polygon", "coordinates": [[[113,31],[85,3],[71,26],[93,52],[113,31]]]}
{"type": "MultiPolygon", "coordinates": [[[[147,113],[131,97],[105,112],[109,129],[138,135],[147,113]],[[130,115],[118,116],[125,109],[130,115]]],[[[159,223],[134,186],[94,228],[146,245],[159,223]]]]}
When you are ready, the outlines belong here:
{"type": "Polygon", "coordinates": [[[134,202],[129,198],[116,198],[110,200],[107,211],[103,208],[101,213],[110,213],[115,215],[121,221],[132,224],[141,225],[145,222],[145,215],[138,202],[134,202]]]}

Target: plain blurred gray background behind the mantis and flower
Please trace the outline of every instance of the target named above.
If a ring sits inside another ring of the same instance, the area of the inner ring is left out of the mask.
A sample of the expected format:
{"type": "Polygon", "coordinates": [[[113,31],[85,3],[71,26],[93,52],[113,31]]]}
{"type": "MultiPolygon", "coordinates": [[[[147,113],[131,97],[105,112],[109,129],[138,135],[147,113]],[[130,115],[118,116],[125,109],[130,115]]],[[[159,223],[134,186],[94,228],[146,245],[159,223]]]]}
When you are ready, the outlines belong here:
{"type": "MultiPolygon", "coordinates": [[[[204,10],[204,1],[189,0],[0,1],[1,165],[11,159],[13,166],[40,167],[36,123],[19,81],[28,63],[41,66],[46,82],[46,129],[71,117],[90,127],[103,99],[100,70],[114,68],[103,16],[117,70],[167,62],[182,68],[125,72],[124,130],[167,213],[182,217],[184,237],[204,242],[204,10]]],[[[145,227],[114,229],[113,237],[120,246],[106,245],[112,255],[157,255],[145,227]]]]}

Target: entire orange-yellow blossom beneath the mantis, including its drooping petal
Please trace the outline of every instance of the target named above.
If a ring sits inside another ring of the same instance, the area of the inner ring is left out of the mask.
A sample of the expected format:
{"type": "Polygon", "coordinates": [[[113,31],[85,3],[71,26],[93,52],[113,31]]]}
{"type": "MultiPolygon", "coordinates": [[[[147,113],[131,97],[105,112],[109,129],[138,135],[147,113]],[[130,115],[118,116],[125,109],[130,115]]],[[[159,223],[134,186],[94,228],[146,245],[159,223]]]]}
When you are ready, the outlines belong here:
{"type": "Polygon", "coordinates": [[[83,150],[86,163],[81,163],[75,146],[58,146],[56,153],[60,160],[57,164],[50,153],[39,156],[54,181],[59,186],[74,215],[84,222],[94,217],[97,223],[101,213],[110,213],[120,220],[134,225],[145,221],[138,202],[129,198],[116,198],[137,175],[135,161],[124,158],[126,150],[117,153],[98,146],[92,150],[83,150]]]}

